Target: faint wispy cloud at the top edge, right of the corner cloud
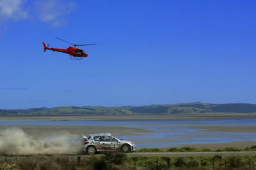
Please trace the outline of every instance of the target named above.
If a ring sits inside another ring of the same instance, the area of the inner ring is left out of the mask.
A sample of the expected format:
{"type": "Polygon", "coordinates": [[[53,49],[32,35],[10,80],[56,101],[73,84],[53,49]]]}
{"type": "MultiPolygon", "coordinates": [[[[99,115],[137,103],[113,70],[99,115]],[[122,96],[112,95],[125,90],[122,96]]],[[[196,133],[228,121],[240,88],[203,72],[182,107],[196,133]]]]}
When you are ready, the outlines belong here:
{"type": "Polygon", "coordinates": [[[64,3],[60,0],[37,1],[35,5],[40,20],[50,23],[52,27],[60,27],[67,24],[65,16],[77,8],[74,3],[64,3]]]}

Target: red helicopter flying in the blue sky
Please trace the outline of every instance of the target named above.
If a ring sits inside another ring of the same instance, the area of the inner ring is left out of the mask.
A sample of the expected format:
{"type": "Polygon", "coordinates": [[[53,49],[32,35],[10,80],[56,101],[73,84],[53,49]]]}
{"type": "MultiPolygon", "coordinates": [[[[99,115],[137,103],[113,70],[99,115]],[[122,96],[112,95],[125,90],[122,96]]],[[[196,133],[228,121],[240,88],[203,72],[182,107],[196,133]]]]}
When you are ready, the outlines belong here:
{"type": "MultiPolygon", "coordinates": [[[[56,38],[56,39],[60,39],[60,38],[56,38]]],[[[44,52],[46,50],[52,50],[53,52],[62,52],[62,53],[68,53],[70,55],[70,59],[73,60],[82,60],[81,57],[88,57],[88,53],[84,52],[83,50],[76,48],[76,46],[85,46],[85,45],[76,45],[76,44],[72,44],[68,41],[65,41],[63,39],[60,39],[61,41],[64,41],[66,43],[69,43],[71,45],[74,45],[74,47],[70,46],[67,49],[60,49],[60,48],[49,48],[48,46],[45,45],[45,43],[43,42],[44,45],[44,52]],[[73,57],[77,57],[77,58],[72,58],[73,57]],[[79,58],[78,58],[79,57],[79,58]]],[[[97,44],[86,44],[86,45],[97,45],[97,44]]]]}

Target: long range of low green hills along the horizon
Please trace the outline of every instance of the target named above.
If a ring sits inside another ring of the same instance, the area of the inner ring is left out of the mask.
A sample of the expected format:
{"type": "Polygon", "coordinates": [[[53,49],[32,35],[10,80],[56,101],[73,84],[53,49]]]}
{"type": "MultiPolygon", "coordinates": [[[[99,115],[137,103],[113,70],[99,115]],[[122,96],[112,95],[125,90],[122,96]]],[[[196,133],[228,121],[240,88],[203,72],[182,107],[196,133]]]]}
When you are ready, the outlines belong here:
{"type": "Polygon", "coordinates": [[[156,104],[150,106],[70,106],[57,108],[31,108],[24,110],[0,110],[0,115],[134,115],[172,113],[256,113],[256,104],[211,104],[195,102],[181,104],[156,104]]]}

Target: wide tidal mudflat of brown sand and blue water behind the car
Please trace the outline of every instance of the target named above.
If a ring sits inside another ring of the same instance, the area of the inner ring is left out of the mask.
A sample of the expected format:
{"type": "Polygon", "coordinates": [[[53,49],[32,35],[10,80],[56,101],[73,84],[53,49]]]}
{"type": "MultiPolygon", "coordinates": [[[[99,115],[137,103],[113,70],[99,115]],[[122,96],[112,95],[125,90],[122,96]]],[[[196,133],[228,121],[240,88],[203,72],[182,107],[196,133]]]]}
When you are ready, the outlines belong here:
{"type": "Polygon", "coordinates": [[[0,117],[0,129],[11,127],[42,138],[60,132],[74,136],[110,132],[119,138],[131,139],[138,148],[214,149],[256,145],[254,114],[0,117]]]}

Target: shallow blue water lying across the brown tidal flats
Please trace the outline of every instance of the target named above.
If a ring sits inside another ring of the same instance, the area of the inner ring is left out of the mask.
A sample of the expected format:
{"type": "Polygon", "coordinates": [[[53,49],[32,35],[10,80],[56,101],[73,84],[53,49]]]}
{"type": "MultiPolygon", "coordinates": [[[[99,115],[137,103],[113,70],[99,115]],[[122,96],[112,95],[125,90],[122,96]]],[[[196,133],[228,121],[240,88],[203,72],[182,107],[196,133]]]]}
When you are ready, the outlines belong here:
{"type": "Polygon", "coordinates": [[[1,121],[1,125],[89,125],[106,127],[133,127],[147,129],[139,136],[117,136],[134,141],[138,148],[172,147],[179,145],[231,143],[236,141],[256,141],[255,133],[205,132],[198,127],[256,127],[256,119],[216,119],[216,120],[88,120],[88,121],[1,121]]]}

